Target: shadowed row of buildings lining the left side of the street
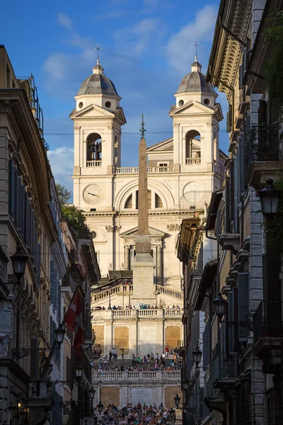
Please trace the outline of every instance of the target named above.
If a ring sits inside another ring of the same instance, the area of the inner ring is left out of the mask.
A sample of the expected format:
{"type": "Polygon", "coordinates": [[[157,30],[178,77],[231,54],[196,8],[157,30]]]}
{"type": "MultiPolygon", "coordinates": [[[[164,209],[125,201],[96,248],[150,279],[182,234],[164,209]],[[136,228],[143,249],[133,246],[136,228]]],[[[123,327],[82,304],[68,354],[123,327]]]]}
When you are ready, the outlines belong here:
{"type": "Polygon", "coordinates": [[[0,421],[4,424],[78,424],[89,417],[91,362],[100,352],[93,346],[91,329],[91,285],[100,279],[96,253],[87,232],[86,239],[70,237],[42,129],[33,76],[16,79],[5,47],[0,46],[0,421]],[[63,329],[64,312],[76,288],[81,291],[85,328],[79,352],[74,351],[74,332],[63,329]],[[78,363],[83,368],[81,379],[74,373],[78,363]],[[67,414],[67,406],[74,415],[67,414]]]}

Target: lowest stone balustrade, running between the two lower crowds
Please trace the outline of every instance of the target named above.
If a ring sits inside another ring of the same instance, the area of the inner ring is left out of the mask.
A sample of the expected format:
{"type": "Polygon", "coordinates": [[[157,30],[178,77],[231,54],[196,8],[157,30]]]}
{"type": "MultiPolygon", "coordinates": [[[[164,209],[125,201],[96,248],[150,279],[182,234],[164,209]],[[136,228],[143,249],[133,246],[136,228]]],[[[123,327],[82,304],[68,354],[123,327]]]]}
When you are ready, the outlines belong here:
{"type": "Polygon", "coordinates": [[[100,380],[102,382],[128,381],[128,380],[153,380],[153,381],[178,381],[180,380],[180,372],[177,371],[151,371],[151,370],[134,370],[132,372],[93,372],[92,381],[95,384],[100,380]]]}

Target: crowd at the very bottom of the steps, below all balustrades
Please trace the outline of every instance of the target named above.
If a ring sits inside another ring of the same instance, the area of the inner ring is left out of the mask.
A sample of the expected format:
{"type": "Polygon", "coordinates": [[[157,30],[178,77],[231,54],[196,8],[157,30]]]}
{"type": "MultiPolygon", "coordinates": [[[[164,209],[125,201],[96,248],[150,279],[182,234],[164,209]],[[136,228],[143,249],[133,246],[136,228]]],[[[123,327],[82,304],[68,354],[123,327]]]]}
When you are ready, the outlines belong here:
{"type": "Polygon", "coordinates": [[[161,425],[170,424],[175,420],[175,410],[168,404],[163,406],[163,403],[159,406],[156,406],[155,403],[149,406],[145,403],[143,405],[141,403],[137,405],[127,403],[120,410],[112,403],[101,414],[96,407],[94,414],[96,414],[98,423],[101,421],[109,425],[161,425]]]}

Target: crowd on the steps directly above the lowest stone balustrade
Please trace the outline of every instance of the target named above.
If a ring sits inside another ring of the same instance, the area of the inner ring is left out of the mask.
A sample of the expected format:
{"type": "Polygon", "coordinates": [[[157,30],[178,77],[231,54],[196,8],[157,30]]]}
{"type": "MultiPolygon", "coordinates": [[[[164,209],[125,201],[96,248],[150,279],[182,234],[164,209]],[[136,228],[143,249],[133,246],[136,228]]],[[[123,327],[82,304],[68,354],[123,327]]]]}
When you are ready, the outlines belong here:
{"type": "MultiPolygon", "coordinates": [[[[122,360],[124,359],[124,348],[120,348],[122,351],[122,360]]],[[[135,356],[132,354],[131,365],[116,364],[117,353],[115,348],[112,348],[112,351],[109,352],[109,356],[104,356],[100,358],[98,362],[98,372],[103,372],[107,369],[112,372],[132,372],[134,370],[139,371],[156,371],[156,370],[180,370],[181,368],[181,358],[178,356],[177,347],[173,350],[173,358],[169,359],[169,346],[166,346],[165,352],[161,356],[156,353],[147,354],[147,356],[135,356]],[[168,359],[166,363],[166,359],[168,359]],[[112,365],[111,368],[108,368],[108,365],[112,365]]]]}

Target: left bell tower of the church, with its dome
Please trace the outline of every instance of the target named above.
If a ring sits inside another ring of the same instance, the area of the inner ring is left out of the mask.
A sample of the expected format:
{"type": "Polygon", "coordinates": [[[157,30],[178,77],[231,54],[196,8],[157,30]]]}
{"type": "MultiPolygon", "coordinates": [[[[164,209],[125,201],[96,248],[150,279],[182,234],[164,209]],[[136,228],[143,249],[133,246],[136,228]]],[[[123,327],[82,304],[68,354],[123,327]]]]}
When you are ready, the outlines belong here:
{"type": "MultiPolygon", "coordinates": [[[[94,176],[113,175],[121,164],[121,127],[126,123],[115,85],[99,58],[74,96],[74,204],[84,208],[83,185],[94,176]]],[[[87,208],[86,208],[87,210],[87,208]]]]}

